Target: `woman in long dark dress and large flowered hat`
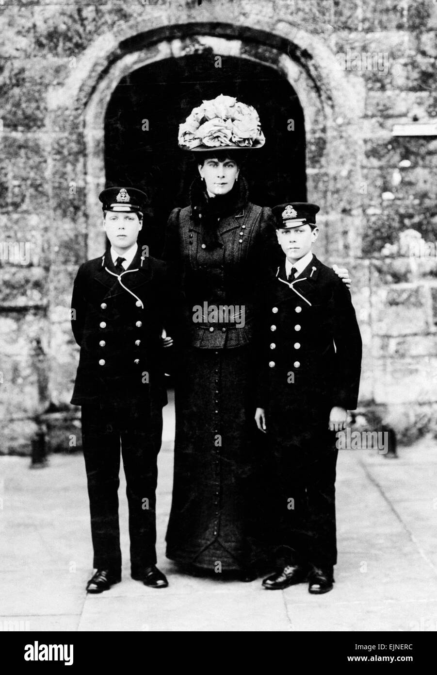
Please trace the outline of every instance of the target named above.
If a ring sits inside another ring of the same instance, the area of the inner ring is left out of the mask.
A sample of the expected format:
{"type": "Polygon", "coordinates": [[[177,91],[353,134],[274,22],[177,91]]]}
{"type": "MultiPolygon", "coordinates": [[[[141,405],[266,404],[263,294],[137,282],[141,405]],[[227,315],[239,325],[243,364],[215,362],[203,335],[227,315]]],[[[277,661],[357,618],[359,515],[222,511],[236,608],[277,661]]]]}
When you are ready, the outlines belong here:
{"type": "Polygon", "coordinates": [[[270,209],[249,201],[240,168],[264,136],[253,108],[217,97],[194,109],[179,143],[196,153],[200,175],[190,206],[170,215],[163,254],[185,302],[167,557],[254,578],[267,497],[254,423],[256,288],[274,228],[270,209]]]}

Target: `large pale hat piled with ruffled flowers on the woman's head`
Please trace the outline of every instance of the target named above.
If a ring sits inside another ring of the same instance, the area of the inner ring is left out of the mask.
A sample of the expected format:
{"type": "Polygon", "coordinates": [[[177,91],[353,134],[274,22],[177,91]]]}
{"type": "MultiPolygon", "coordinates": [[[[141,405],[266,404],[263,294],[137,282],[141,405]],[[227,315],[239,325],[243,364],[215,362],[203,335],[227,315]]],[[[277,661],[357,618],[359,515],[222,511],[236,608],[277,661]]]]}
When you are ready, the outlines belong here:
{"type": "Polygon", "coordinates": [[[223,94],[194,108],[179,124],[177,140],[192,151],[249,150],[266,142],[255,108],[223,94]]]}

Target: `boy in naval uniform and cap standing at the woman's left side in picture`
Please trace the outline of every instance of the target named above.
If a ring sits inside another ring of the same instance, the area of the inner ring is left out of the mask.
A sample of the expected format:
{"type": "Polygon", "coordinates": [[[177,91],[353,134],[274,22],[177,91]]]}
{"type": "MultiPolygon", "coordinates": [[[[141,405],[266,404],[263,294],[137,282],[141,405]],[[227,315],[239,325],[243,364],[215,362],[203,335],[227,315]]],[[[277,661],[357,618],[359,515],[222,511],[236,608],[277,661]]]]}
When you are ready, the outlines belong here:
{"type": "Polygon", "coordinates": [[[156,457],[167,403],[164,327],[172,300],[163,261],[137,244],[146,195],[108,188],[99,195],[111,248],[80,266],[71,327],[80,360],[71,403],[82,406],[82,439],[95,574],[88,593],[121,580],[118,494],[120,452],[127,483],[132,578],[168,585],[156,568],[156,457]]]}

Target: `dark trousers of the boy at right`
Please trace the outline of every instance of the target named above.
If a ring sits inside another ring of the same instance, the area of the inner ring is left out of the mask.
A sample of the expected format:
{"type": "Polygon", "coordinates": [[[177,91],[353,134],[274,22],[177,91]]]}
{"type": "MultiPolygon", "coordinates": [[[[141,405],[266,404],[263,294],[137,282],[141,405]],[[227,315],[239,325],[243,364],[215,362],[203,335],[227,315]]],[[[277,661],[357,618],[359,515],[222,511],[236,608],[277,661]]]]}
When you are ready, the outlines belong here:
{"type": "MultiPolygon", "coordinates": [[[[327,426],[327,420],[326,420],[327,426]]],[[[274,461],[274,543],[279,563],[337,563],[334,433],[277,438],[274,461]]]]}

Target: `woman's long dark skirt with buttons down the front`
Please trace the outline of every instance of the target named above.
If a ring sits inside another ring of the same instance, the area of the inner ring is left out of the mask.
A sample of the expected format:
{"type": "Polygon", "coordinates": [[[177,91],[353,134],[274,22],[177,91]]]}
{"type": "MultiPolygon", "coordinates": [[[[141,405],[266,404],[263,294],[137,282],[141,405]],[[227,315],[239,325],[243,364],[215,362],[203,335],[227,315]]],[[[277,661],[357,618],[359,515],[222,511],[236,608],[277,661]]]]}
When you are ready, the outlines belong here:
{"type": "Polygon", "coordinates": [[[253,358],[250,346],[184,354],[175,387],[171,560],[219,572],[264,558],[253,358]]]}

